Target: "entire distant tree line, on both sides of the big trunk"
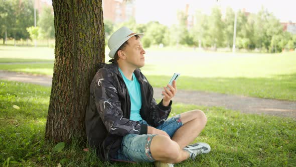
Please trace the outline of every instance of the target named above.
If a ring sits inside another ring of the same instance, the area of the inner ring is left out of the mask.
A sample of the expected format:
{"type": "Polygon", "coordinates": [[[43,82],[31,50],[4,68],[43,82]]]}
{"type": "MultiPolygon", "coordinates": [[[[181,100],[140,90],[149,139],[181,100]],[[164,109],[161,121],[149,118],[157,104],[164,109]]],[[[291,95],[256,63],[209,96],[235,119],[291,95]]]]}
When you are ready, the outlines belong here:
{"type": "MultiPolygon", "coordinates": [[[[51,7],[44,7],[37,15],[37,27],[34,27],[34,4],[32,0],[0,0],[0,39],[28,40],[54,38],[54,16],[51,7]]],[[[234,11],[226,9],[222,13],[214,7],[210,15],[196,11],[193,24],[188,25],[184,12],[177,14],[178,24],[171,27],[159,22],[136,24],[134,19],[114,25],[104,20],[106,41],[108,36],[121,26],[133,31],[144,32],[144,47],[151,45],[186,45],[206,49],[232,48],[234,11]]],[[[238,11],[236,27],[236,47],[239,49],[258,49],[263,52],[281,52],[283,49],[296,48],[296,35],[283,31],[279,20],[262,8],[257,14],[238,11]]]]}

